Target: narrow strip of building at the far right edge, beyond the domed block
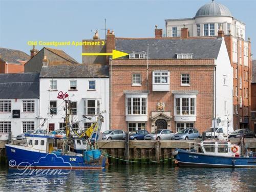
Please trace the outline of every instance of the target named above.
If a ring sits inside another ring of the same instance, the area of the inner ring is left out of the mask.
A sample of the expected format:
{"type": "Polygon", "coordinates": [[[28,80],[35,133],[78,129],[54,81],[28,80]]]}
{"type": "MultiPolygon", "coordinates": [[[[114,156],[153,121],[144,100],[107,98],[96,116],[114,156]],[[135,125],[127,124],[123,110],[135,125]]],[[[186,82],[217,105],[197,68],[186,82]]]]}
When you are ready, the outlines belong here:
{"type": "Polygon", "coordinates": [[[250,128],[256,133],[256,60],[252,59],[250,128]]]}

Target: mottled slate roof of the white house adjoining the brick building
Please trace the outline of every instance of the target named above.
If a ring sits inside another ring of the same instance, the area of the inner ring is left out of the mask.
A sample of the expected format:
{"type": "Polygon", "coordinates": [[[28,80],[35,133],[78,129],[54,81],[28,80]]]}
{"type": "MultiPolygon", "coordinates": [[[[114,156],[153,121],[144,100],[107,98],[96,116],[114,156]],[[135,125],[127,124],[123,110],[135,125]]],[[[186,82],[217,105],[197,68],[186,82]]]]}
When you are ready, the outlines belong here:
{"type": "Polygon", "coordinates": [[[42,67],[40,78],[108,78],[108,65],[49,65],[42,67]]]}

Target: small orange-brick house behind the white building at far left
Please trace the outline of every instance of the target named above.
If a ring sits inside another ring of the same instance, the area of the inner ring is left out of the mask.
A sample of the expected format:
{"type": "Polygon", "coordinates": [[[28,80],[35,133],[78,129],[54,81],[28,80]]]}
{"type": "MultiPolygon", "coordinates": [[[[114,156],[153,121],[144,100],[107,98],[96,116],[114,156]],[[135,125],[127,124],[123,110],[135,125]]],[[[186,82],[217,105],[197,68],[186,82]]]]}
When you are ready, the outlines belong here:
{"type": "Polygon", "coordinates": [[[0,73],[24,73],[29,55],[14,49],[0,48],[0,73]]]}

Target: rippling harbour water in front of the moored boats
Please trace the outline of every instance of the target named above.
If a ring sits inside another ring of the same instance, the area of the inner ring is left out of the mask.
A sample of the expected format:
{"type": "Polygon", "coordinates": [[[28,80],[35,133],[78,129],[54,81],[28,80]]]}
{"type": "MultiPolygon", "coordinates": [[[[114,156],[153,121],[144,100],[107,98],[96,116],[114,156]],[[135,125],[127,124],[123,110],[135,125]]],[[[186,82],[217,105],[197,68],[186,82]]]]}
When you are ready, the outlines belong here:
{"type": "Polygon", "coordinates": [[[61,176],[22,173],[0,167],[0,191],[256,191],[255,168],[143,164],[72,170],[61,176]]]}

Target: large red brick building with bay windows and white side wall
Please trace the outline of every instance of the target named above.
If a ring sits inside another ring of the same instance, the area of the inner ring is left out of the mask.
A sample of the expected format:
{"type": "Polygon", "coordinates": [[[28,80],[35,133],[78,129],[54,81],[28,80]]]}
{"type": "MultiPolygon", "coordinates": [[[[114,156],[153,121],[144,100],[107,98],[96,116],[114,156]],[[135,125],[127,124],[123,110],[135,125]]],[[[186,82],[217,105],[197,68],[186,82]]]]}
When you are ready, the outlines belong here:
{"type": "Polygon", "coordinates": [[[111,129],[196,127],[202,132],[216,116],[222,119],[219,126],[232,131],[232,116],[224,118],[232,112],[232,68],[222,33],[214,38],[117,38],[109,32],[106,52],[112,49],[129,56],[109,61],[111,129]]]}

